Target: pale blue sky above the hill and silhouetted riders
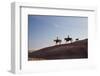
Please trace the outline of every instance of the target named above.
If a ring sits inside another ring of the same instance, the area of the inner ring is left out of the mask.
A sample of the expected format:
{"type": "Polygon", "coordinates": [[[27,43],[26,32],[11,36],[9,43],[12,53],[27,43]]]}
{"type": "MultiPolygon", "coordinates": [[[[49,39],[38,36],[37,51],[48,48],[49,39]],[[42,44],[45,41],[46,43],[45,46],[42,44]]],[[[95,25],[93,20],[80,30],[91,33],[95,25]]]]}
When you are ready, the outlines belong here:
{"type": "Polygon", "coordinates": [[[88,38],[88,18],[78,16],[28,15],[28,50],[53,46],[58,36],[64,38],[88,38]]]}

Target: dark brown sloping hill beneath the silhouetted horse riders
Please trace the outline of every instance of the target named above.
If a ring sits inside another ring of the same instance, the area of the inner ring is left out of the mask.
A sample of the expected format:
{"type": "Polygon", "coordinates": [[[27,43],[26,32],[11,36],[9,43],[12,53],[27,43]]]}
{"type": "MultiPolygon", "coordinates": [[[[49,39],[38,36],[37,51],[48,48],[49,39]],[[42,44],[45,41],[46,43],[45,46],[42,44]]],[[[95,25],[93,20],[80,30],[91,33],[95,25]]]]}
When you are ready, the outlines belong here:
{"type": "Polygon", "coordinates": [[[88,39],[55,45],[28,54],[29,60],[88,58],[88,39]]]}

